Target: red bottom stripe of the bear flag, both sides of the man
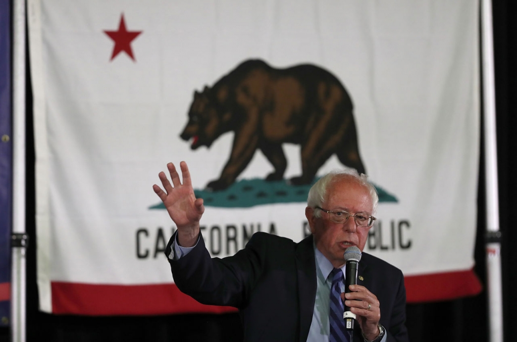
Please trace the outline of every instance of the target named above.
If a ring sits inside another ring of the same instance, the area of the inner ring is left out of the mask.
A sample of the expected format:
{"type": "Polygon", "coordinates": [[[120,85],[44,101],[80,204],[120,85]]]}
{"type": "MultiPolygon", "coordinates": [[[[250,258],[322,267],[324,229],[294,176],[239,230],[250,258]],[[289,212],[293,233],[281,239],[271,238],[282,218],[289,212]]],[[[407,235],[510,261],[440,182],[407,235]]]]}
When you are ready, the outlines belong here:
{"type": "MultiPolygon", "coordinates": [[[[474,271],[404,277],[408,303],[446,301],[479,294],[481,282],[474,271]]],[[[92,285],[52,282],[52,313],[78,315],[161,315],[237,311],[230,306],[201,304],[174,284],[92,285]]],[[[0,300],[9,283],[0,284],[0,300]]],[[[5,300],[5,299],[4,299],[5,300]]]]}

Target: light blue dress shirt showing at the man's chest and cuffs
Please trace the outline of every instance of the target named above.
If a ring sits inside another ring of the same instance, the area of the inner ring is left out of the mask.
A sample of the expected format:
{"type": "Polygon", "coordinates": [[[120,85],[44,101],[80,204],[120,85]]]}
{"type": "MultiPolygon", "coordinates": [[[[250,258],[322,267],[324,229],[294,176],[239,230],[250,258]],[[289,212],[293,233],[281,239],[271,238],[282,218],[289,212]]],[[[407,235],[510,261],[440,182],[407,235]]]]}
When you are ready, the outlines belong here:
{"type": "MultiPolygon", "coordinates": [[[[177,235],[176,235],[177,239],[177,235]]],[[[199,242],[199,239],[197,240],[199,242]]],[[[197,243],[196,243],[197,245],[197,243]]],[[[174,240],[173,248],[171,248],[171,254],[169,259],[178,260],[179,258],[187,255],[192,248],[195,247],[181,247],[177,240],[174,240]]],[[[329,300],[330,300],[330,286],[332,285],[332,279],[328,279],[330,272],[332,272],[334,266],[328,261],[322,252],[314,248],[314,258],[316,259],[316,300],[314,301],[314,310],[312,311],[312,322],[311,328],[309,329],[309,336],[307,342],[328,342],[328,334],[330,331],[330,323],[328,321],[329,313],[329,300]]],[[[345,275],[345,266],[341,267],[343,275],[345,275]]],[[[341,284],[341,292],[345,291],[345,285],[341,284]]],[[[381,342],[386,342],[386,336],[384,335],[381,342]]]]}

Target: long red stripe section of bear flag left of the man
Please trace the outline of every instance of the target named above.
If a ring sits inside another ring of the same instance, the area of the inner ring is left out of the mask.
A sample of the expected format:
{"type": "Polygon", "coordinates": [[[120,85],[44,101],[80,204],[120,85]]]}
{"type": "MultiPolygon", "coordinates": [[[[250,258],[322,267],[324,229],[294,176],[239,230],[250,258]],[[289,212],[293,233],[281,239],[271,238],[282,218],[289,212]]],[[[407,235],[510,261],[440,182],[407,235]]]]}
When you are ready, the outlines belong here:
{"type": "Polygon", "coordinates": [[[203,305],[174,284],[93,285],[52,282],[52,313],[78,315],[222,314],[230,306],[203,305]]]}

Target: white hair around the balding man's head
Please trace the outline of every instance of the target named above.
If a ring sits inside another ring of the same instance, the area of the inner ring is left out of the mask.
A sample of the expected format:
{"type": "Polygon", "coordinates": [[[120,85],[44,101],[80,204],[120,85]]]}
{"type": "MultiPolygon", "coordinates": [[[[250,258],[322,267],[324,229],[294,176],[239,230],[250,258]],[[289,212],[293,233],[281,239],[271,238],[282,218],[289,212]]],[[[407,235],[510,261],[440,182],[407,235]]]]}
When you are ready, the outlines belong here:
{"type": "MultiPolygon", "coordinates": [[[[334,170],[323,177],[321,177],[309,190],[309,196],[307,198],[307,205],[316,209],[316,206],[322,206],[323,202],[325,202],[325,196],[327,195],[327,189],[337,181],[342,179],[352,179],[359,183],[360,185],[366,187],[370,192],[370,197],[372,198],[373,204],[373,212],[372,215],[375,215],[377,211],[377,204],[379,203],[379,196],[377,195],[377,190],[368,181],[368,176],[364,173],[359,174],[356,169],[346,169],[346,170],[334,170]]],[[[314,217],[320,217],[321,211],[314,211],[314,217]]]]}

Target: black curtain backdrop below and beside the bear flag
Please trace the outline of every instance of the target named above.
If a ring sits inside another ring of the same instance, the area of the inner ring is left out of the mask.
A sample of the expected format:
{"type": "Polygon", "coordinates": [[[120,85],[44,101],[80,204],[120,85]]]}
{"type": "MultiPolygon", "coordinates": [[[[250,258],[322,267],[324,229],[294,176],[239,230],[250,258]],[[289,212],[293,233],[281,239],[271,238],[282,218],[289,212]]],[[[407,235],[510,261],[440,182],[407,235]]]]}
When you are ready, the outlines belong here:
{"type": "MultiPolygon", "coordinates": [[[[503,305],[505,340],[515,340],[513,322],[517,321],[514,307],[517,296],[517,232],[512,229],[513,209],[517,207],[516,162],[517,116],[512,112],[517,72],[517,4],[512,0],[493,3],[494,54],[497,109],[497,158],[499,175],[499,213],[502,232],[501,257],[503,274],[503,305]],[[513,114],[512,114],[513,113],[513,114]],[[512,152],[513,151],[513,152],[512,152]]],[[[27,70],[29,66],[27,65],[27,70]]],[[[30,82],[30,77],[28,77],[30,82]]],[[[34,139],[32,127],[32,92],[27,84],[27,232],[33,238],[27,251],[27,341],[240,341],[242,328],[237,314],[171,315],[151,317],[80,317],[54,316],[38,311],[36,287],[35,182],[34,139]]],[[[488,297],[486,294],[485,262],[485,191],[484,148],[480,144],[478,187],[478,226],[475,245],[475,271],[484,290],[481,294],[454,301],[408,304],[407,327],[410,339],[418,341],[486,341],[489,335],[488,297]]],[[[461,215],[462,213],[458,213],[461,215]]],[[[436,286],[447,286],[437,284],[436,286]]],[[[131,298],[128,298],[130,301],[131,298]]],[[[0,329],[0,341],[9,340],[9,330],[0,329]]]]}

